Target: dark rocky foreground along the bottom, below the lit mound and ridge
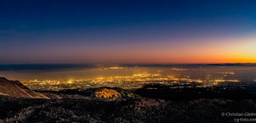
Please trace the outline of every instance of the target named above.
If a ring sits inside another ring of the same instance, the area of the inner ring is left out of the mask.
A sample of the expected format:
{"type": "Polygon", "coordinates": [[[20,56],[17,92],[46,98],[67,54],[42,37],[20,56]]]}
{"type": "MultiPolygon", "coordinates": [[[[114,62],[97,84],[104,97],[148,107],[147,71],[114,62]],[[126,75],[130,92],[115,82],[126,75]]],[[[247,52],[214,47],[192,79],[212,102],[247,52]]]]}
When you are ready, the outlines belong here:
{"type": "Polygon", "coordinates": [[[234,122],[234,118],[240,117],[223,117],[222,113],[255,111],[254,100],[167,101],[142,97],[106,101],[1,97],[0,122],[234,122]]]}

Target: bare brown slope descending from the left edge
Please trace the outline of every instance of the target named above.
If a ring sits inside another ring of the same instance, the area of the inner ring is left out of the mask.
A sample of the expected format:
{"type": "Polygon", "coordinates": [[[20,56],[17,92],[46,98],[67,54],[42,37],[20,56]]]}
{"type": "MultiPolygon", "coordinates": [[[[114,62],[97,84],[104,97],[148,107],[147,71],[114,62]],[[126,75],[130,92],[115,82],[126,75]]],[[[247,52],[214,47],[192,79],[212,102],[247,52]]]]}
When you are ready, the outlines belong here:
{"type": "Polygon", "coordinates": [[[0,77],[0,95],[16,98],[47,98],[43,94],[30,90],[18,80],[7,80],[4,77],[0,77]]]}

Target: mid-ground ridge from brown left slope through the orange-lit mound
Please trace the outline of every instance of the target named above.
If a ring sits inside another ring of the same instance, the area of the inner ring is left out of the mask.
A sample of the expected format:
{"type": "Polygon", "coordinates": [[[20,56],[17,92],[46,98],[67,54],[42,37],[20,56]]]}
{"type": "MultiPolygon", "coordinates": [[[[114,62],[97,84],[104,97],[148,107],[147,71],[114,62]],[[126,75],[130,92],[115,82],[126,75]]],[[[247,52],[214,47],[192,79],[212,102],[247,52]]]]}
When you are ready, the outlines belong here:
{"type": "Polygon", "coordinates": [[[0,95],[15,98],[43,98],[43,99],[85,99],[88,97],[116,100],[136,97],[137,95],[118,87],[99,87],[90,91],[32,91],[18,80],[7,80],[0,77],[0,95]]]}

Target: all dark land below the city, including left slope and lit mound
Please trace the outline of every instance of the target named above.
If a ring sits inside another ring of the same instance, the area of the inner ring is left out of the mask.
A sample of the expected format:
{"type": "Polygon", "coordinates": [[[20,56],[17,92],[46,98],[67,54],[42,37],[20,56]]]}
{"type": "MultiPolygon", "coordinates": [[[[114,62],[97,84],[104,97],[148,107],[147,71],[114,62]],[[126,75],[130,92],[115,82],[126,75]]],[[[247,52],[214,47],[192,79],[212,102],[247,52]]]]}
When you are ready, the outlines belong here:
{"type": "Polygon", "coordinates": [[[100,87],[57,92],[31,91],[5,78],[0,85],[0,122],[234,122],[256,117],[222,116],[255,113],[254,87],[147,85],[136,91],[100,87]],[[5,87],[27,93],[16,96],[5,87]]]}

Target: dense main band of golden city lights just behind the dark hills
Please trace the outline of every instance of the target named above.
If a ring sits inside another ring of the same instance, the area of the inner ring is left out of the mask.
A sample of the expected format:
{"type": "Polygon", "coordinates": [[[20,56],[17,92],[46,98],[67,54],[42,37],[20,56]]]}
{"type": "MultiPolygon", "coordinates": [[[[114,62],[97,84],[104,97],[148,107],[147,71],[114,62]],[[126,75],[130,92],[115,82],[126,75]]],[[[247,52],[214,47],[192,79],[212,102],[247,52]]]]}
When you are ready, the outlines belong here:
{"type": "MultiPolygon", "coordinates": [[[[61,91],[66,89],[72,90],[85,90],[95,87],[121,87],[127,90],[133,90],[144,87],[147,84],[165,84],[165,85],[178,85],[178,87],[211,87],[223,82],[240,82],[239,80],[192,80],[186,78],[175,77],[159,77],[159,78],[133,78],[133,77],[99,77],[95,80],[29,80],[24,81],[22,84],[26,85],[33,90],[40,91],[61,91]],[[197,84],[195,86],[195,84],[197,84]]],[[[177,87],[177,86],[175,86],[177,87]]]]}

